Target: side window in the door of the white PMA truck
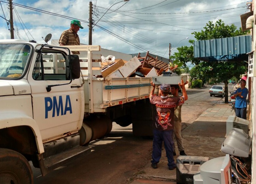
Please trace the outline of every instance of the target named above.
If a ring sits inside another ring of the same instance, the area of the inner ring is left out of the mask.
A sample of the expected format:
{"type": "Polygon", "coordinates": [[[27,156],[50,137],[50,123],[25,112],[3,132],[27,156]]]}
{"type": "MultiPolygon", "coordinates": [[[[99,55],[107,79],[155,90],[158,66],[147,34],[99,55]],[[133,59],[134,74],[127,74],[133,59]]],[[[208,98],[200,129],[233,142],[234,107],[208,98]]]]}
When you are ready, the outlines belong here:
{"type": "Polygon", "coordinates": [[[33,70],[34,80],[67,80],[64,53],[43,49],[38,58],[33,70]]]}

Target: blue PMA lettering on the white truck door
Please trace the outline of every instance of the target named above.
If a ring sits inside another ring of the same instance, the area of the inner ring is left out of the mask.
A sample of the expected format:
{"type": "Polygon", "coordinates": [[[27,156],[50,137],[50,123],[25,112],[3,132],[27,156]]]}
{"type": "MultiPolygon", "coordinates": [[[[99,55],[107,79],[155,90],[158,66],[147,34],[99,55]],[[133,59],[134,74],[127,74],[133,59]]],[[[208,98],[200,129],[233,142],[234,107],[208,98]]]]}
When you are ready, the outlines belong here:
{"type": "Polygon", "coordinates": [[[71,106],[69,95],[66,95],[65,107],[63,107],[62,96],[59,96],[59,101],[57,101],[56,96],[53,96],[53,98],[45,97],[44,104],[45,104],[45,119],[48,118],[48,112],[51,113],[51,111],[52,111],[52,117],[55,117],[55,115],[57,116],[66,115],[67,111],[69,111],[69,113],[72,114],[72,106],[71,106]]]}

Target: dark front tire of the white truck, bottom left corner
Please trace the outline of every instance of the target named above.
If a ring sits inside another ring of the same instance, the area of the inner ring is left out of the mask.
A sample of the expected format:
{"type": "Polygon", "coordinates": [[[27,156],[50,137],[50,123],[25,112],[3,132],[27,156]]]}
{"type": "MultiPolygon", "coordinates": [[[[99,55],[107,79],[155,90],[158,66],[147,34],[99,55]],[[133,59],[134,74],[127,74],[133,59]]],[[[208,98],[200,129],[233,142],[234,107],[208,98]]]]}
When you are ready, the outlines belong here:
{"type": "Polygon", "coordinates": [[[1,184],[33,184],[31,167],[22,154],[0,148],[0,163],[1,184]]]}

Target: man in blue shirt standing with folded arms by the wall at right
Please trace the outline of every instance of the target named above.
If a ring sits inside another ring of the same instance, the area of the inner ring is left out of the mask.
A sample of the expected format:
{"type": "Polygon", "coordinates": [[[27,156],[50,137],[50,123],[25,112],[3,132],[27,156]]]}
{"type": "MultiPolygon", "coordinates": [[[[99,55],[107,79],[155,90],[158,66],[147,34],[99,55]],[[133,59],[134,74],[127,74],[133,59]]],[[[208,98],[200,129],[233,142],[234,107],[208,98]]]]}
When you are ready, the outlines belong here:
{"type": "Polygon", "coordinates": [[[236,97],[236,116],[239,118],[243,118],[246,120],[246,109],[247,109],[247,102],[246,97],[248,94],[248,89],[245,88],[246,81],[241,79],[240,81],[240,88],[238,88],[234,92],[234,96],[236,97]]]}

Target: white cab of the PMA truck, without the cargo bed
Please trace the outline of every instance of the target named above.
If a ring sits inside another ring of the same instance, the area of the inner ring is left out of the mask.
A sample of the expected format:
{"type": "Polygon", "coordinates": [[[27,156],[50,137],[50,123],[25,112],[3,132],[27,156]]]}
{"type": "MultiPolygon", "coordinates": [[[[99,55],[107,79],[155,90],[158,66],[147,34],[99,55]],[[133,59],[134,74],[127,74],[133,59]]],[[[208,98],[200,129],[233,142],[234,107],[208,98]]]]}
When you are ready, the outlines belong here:
{"type": "Polygon", "coordinates": [[[53,165],[45,165],[44,160],[54,154],[44,156],[47,147],[51,148],[49,142],[55,140],[56,144],[63,137],[68,142],[67,137],[75,137],[82,126],[79,58],[68,48],[21,40],[0,41],[0,53],[0,183],[31,183],[26,160],[46,174],[53,165]],[[23,164],[18,169],[13,165],[15,174],[2,172],[13,164],[6,159],[17,158],[23,164]]]}

